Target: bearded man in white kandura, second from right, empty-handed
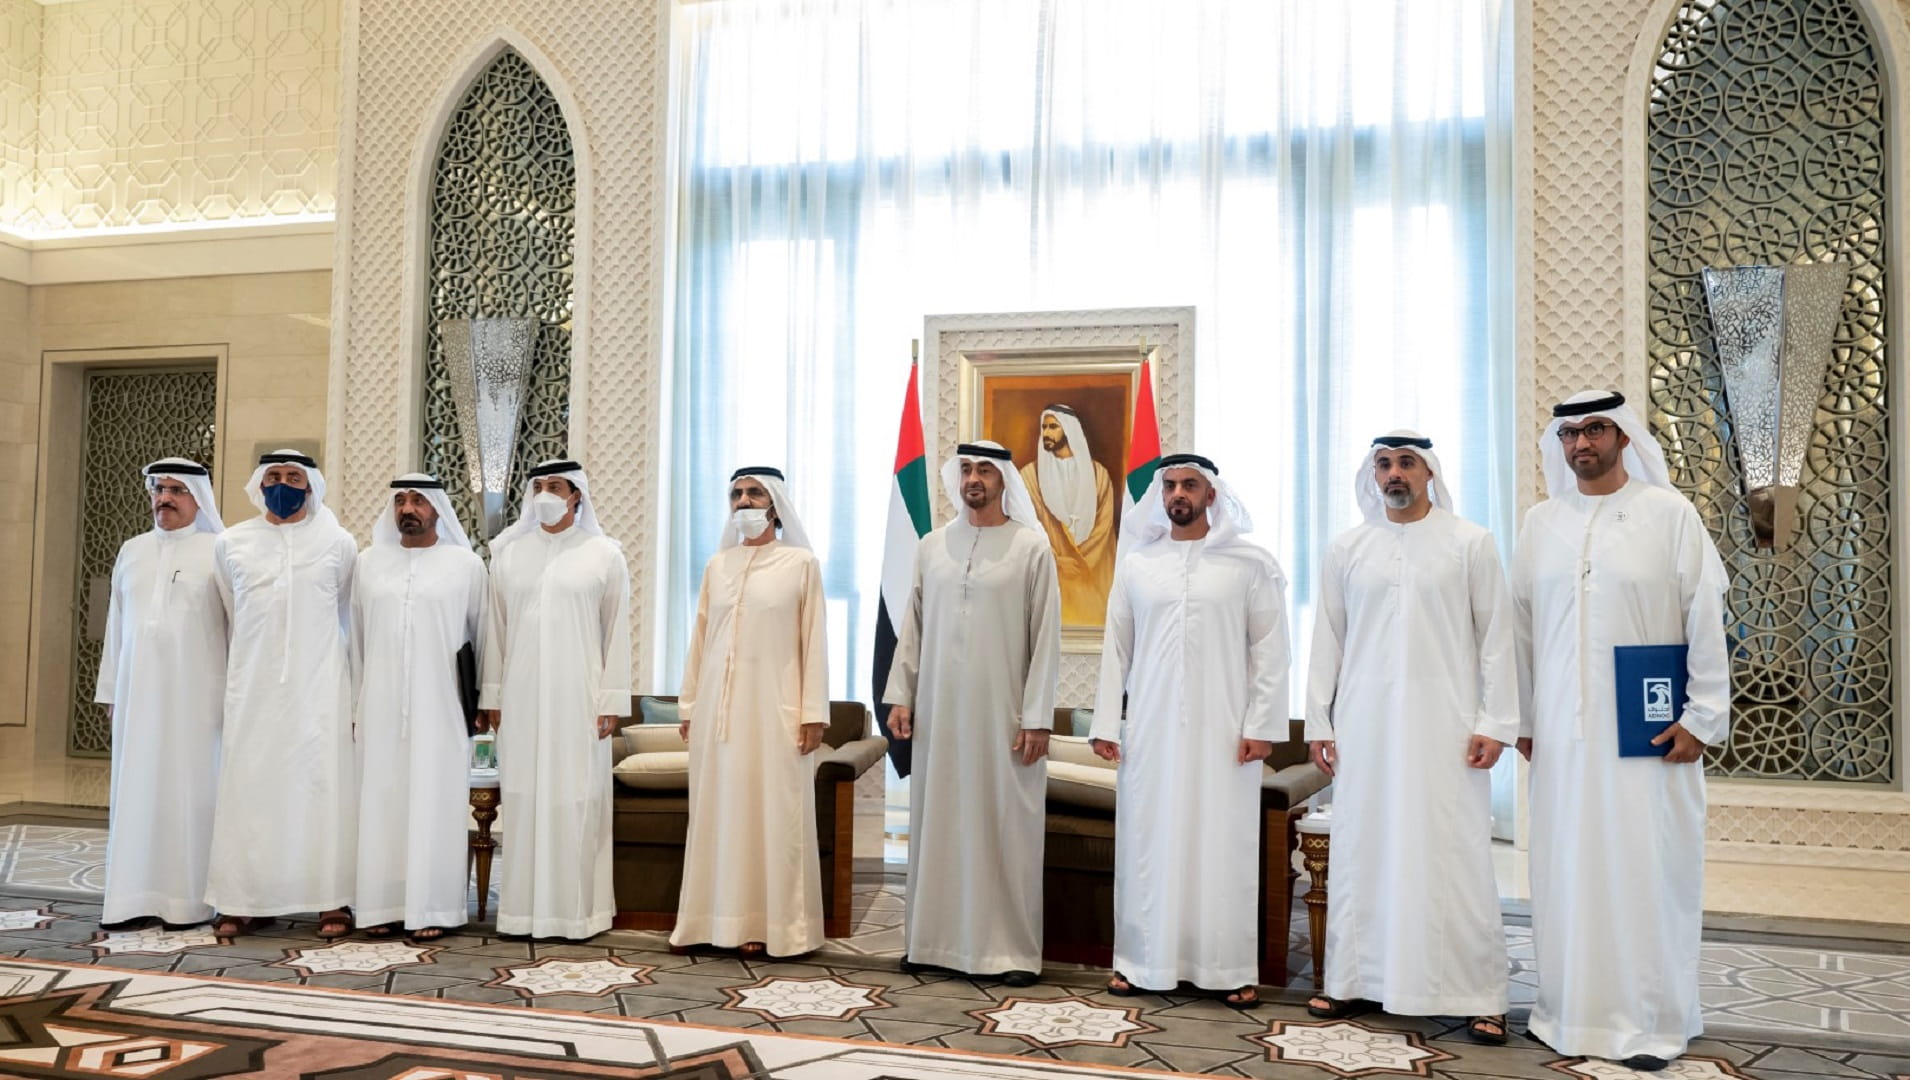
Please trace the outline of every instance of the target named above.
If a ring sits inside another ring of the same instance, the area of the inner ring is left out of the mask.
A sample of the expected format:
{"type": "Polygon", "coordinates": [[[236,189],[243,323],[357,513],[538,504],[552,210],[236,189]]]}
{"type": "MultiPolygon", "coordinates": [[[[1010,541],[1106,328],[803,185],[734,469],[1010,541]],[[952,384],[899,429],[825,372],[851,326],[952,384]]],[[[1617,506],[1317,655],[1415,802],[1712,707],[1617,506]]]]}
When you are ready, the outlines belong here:
{"type": "Polygon", "coordinates": [[[1419,432],[1373,440],[1352,486],[1366,524],[1326,549],[1306,679],[1306,740],[1337,791],[1326,992],[1306,1011],[1471,1017],[1503,1044],[1488,770],[1518,738],[1505,572],[1419,432]]]}

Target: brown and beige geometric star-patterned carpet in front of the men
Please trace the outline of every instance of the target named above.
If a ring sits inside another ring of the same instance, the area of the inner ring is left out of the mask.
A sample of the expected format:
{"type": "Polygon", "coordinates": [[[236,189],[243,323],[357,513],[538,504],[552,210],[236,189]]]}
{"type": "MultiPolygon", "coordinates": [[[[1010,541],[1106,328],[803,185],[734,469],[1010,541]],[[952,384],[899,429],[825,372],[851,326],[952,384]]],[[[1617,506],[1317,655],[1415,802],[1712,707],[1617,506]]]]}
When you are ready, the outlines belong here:
{"type": "MultiPolygon", "coordinates": [[[[1010,988],[993,979],[911,975],[894,961],[842,952],[806,961],[676,956],[653,935],[535,944],[497,939],[489,927],[468,927],[430,946],[363,937],[323,942],[309,918],[281,919],[222,946],[197,940],[193,931],[109,935],[97,929],[97,900],[0,889],[4,912],[32,914],[31,919],[0,916],[0,925],[19,927],[0,931],[0,1074],[6,1076],[222,1076],[235,1074],[222,1069],[241,1057],[252,1069],[264,1069],[260,1061],[271,1065],[258,1074],[327,1080],[605,1072],[705,1080],[1121,1074],[1110,1067],[1270,1080],[1635,1076],[1612,1063],[1549,1051],[1520,1032],[1517,1009],[1511,1044],[1482,1048],[1465,1038],[1457,1019],[1369,1013],[1356,1021],[1314,1021],[1303,996],[1282,992],[1266,992],[1266,1004],[1247,1013],[1192,994],[1114,998],[1091,971],[1050,973],[1035,986],[1010,988]],[[132,983],[124,983],[128,977],[132,983]],[[164,1013],[164,1023],[134,1023],[132,1004],[159,1009],[153,1015],[164,1013]],[[405,1026],[407,1009],[422,1009],[416,1026],[405,1026]],[[181,1021],[187,1015],[227,1026],[193,1026],[181,1021]],[[359,1021],[359,1015],[378,1019],[359,1021]],[[393,1025],[411,1032],[403,1046],[386,1044],[371,1053],[363,1040],[384,1038],[376,1032],[397,1030],[393,1025]],[[462,1040],[458,1053],[470,1055],[447,1061],[443,1046],[426,1046],[443,1040],[462,1040]],[[464,1046],[470,1040],[483,1046],[464,1046]],[[577,1051],[596,1065],[548,1059],[563,1046],[596,1048],[577,1051]]],[[[1889,973],[1855,954],[1830,960],[1811,954],[1818,960],[1809,967],[1782,967],[1801,958],[1769,946],[1738,948],[1753,950],[1742,960],[1753,971],[1751,984],[1763,984],[1765,1002],[1790,1000],[1769,981],[1799,969],[1818,975],[1814,986],[1841,981],[1858,988],[1868,994],[1860,998],[1866,1004],[1876,1004],[1879,988],[1897,986],[1889,973]]],[[[1713,1028],[1662,1076],[1895,1080],[1910,1076],[1910,1038],[1822,1028],[1792,1034],[1778,1025],[1755,1032],[1713,1028]]]]}

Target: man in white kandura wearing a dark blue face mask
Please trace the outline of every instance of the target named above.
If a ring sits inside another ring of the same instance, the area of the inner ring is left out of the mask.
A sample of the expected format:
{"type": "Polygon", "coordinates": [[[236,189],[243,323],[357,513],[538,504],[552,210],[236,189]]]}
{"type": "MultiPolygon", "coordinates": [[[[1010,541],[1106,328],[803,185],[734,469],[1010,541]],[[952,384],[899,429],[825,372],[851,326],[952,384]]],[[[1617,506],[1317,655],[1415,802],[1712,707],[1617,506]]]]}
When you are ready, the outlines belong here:
{"type": "Polygon", "coordinates": [[[264,514],[214,545],[233,635],[206,902],[220,937],[321,910],[319,937],[344,937],[357,872],[346,637],[357,541],[304,453],[262,455],[244,491],[264,514]]]}

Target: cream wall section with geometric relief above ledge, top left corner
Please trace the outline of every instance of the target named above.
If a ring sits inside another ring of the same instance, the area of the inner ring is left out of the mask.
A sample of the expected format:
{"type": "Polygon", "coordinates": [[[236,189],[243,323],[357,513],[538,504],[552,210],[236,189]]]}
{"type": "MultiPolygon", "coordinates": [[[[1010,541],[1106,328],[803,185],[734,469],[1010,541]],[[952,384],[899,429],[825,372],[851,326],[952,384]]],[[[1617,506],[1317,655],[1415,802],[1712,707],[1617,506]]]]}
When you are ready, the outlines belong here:
{"type": "Polygon", "coordinates": [[[338,0],[80,0],[38,21],[19,227],[332,212],[338,0]]]}

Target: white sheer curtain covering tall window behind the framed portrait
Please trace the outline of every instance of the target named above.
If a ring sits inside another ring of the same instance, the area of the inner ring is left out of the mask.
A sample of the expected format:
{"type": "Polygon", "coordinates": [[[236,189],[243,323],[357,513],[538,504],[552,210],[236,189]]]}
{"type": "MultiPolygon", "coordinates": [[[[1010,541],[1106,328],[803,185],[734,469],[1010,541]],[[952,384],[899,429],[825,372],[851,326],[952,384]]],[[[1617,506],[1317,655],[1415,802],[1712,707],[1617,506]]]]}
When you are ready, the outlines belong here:
{"type": "Polygon", "coordinates": [[[1287,568],[1301,646],[1373,434],[1432,434],[1461,508],[1509,537],[1507,17],[1505,0],[682,4],[661,680],[682,671],[730,468],[779,464],[825,564],[831,690],[867,698],[896,409],[928,313],[1194,304],[1194,449],[1287,568]]]}

